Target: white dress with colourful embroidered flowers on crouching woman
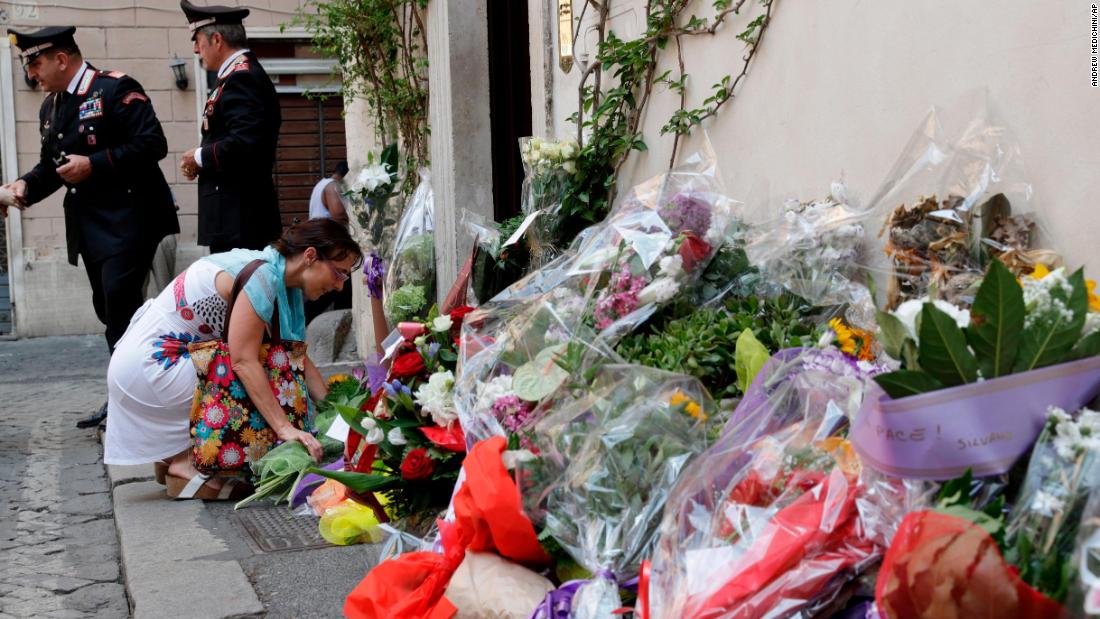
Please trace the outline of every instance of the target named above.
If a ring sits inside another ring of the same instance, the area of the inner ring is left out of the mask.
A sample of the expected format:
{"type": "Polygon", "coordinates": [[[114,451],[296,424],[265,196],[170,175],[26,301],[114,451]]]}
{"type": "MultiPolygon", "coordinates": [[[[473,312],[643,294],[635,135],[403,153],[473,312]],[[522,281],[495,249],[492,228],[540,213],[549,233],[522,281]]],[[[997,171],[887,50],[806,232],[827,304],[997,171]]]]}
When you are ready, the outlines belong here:
{"type": "Polygon", "coordinates": [[[107,464],[144,464],[190,446],[191,397],[198,375],[187,345],[220,338],[222,269],[200,259],[134,313],[107,371],[107,464]]]}

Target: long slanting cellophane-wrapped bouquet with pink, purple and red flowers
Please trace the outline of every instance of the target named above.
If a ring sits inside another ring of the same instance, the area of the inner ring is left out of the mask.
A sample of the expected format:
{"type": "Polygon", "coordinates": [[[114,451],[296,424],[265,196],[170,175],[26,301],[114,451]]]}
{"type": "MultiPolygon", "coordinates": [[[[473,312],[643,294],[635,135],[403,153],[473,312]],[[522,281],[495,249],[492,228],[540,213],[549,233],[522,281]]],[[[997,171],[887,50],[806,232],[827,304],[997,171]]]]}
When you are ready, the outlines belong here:
{"type": "Polygon", "coordinates": [[[733,220],[713,166],[696,155],[638,185],[569,252],[470,317],[455,400],[471,440],[504,433],[491,410],[501,396],[534,408],[565,383],[565,367],[616,358],[607,353],[623,334],[693,292],[733,220]]]}

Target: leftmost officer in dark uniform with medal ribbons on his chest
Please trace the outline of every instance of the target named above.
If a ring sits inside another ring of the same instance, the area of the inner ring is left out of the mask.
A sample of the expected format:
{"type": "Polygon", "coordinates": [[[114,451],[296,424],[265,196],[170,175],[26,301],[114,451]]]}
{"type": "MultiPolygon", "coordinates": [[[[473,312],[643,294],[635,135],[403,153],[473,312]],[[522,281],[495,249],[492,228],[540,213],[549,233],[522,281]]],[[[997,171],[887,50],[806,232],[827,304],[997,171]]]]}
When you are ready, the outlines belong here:
{"type": "Polygon", "coordinates": [[[179,222],[157,164],[168,145],[148,96],[125,74],[82,62],[75,31],[8,31],[26,65],[58,49],[70,51],[72,62],[80,63],[72,77],[75,89],[53,88],[38,111],[41,161],[21,177],[26,184],[22,201],[33,205],[64,187],[68,262],[76,266],[77,256],[84,258],[92,306],[113,351],[144,301],[157,244],[179,232],[179,222]],[[57,173],[72,155],[86,156],[91,165],[90,176],[76,184],[57,173]]]}

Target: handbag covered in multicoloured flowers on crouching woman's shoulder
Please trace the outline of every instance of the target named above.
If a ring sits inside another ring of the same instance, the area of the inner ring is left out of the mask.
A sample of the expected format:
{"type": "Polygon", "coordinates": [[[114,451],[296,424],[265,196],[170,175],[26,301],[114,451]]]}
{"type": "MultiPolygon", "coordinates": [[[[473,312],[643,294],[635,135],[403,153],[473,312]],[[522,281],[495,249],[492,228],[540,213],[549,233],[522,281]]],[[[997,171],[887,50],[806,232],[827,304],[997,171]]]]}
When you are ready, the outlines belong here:
{"type": "MultiPolygon", "coordinates": [[[[233,374],[229,356],[233,303],[262,264],[263,259],[252,261],[233,279],[223,336],[188,346],[199,377],[191,401],[191,462],[205,474],[243,476],[246,466],[263,457],[277,440],[275,431],[252,404],[244,384],[233,374]]],[[[295,428],[309,431],[312,418],[305,377],[306,343],[279,336],[277,302],[271,328],[260,346],[260,364],[286,418],[295,428]]]]}

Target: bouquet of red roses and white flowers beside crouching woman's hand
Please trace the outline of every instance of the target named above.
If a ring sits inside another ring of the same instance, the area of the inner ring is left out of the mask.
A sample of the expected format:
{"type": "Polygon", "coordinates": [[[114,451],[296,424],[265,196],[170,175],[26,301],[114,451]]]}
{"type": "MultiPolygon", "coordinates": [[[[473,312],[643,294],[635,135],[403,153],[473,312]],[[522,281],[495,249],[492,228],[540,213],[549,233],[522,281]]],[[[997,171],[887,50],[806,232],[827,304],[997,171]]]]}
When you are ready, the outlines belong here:
{"type": "Polygon", "coordinates": [[[452,389],[455,338],[469,311],[437,314],[432,308],[428,322],[400,324],[404,340],[385,380],[360,408],[336,407],[361,439],[353,471],[312,473],[382,495],[394,519],[436,516],[447,507],[465,454],[452,389]]]}

